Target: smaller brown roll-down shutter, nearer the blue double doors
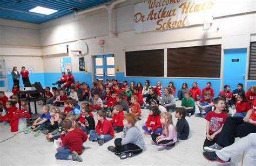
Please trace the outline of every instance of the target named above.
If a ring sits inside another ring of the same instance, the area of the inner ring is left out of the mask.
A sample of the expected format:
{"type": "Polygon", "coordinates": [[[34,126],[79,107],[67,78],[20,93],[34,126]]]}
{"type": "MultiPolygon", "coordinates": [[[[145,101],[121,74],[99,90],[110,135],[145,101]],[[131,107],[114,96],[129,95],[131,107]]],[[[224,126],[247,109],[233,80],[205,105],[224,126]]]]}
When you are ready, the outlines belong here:
{"type": "Polygon", "coordinates": [[[164,49],[125,52],[126,76],[164,77],[164,49]]]}

